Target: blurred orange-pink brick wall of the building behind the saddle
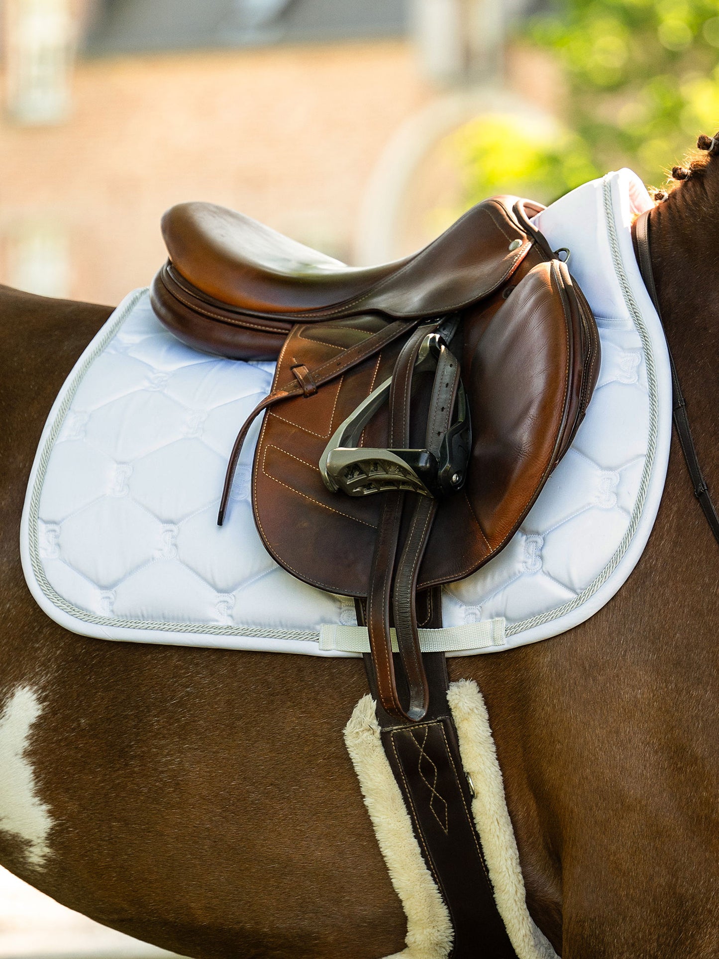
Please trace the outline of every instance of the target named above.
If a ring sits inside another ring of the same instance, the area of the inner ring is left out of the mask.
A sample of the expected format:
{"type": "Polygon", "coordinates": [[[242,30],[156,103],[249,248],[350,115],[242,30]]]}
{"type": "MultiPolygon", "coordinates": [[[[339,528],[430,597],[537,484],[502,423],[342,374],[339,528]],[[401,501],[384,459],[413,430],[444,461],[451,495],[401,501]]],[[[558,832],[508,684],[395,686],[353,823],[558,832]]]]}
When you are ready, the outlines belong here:
{"type": "Polygon", "coordinates": [[[430,96],[402,41],[80,61],[68,121],[0,122],[0,281],[37,234],[65,251],[66,295],[116,303],[185,199],[346,258],[376,160],[430,96]]]}

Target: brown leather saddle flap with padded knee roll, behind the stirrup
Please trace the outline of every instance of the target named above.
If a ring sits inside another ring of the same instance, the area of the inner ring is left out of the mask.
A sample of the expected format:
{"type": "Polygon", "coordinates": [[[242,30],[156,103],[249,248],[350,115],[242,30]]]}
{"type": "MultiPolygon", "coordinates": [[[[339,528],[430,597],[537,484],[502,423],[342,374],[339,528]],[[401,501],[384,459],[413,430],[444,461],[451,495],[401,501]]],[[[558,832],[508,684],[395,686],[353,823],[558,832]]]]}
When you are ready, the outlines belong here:
{"type": "MultiPolygon", "coordinates": [[[[533,252],[517,276],[512,287],[466,311],[452,340],[455,351],[463,340],[471,465],[464,489],[439,501],[420,588],[474,573],[505,545],[565,452],[591,395],[593,321],[567,268],[533,252]]],[[[312,325],[312,339],[304,336],[306,326],[293,329],[275,386],[292,379],[292,365],[312,370],[340,351],[336,336],[321,335],[324,325],[312,325]]],[[[293,575],[333,593],[366,596],[382,497],[330,492],[319,460],[337,426],[391,375],[399,349],[394,343],[352,369],[336,389],[323,387],[270,409],[260,434],[253,507],[267,550],[293,575]]],[[[417,379],[410,426],[419,437],[429,384],[417,379]]],[[[365,427],[360,445],[387,446],[385,410],[365,427]]]]}

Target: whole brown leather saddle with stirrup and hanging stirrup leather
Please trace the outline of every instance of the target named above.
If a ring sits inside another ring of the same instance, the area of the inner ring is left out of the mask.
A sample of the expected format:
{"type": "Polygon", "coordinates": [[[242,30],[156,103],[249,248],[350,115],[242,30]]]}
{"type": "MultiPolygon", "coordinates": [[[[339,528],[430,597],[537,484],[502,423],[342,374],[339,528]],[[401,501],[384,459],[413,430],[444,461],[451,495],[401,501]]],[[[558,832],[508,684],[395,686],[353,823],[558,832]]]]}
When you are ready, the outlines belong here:
{"type": "Polygon", "coordinates": [[[417,630],[441,625],[442,584],[509,541],[596,381],[596,325],[529,222],[539,209],[486,200],[426,248],[371,269],[208,203],[163,220],[157,316],[199,349],[278,357],[235,444],[219,522],[264,412],[260,535],[293,575],[356,598],[379,698],[397,717],[427,712],[417,630]]]}

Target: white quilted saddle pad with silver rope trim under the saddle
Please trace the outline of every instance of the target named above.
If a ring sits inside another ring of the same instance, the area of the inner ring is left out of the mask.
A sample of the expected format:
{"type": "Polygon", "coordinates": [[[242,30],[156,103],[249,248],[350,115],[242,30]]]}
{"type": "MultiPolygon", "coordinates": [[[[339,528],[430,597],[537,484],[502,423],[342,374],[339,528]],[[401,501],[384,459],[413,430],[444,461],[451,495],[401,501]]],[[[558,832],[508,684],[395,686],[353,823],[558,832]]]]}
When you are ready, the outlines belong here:
{"type": "MultiPolygon", "coordinates": [[[[423,648],[492,652],[587,620],[636,565],[661,499],[671,379],[630,223],[651,205],[629,170],[574,190],[537,218],[596,316],[599,382],[571,449],[510,544],[444,590],[445,628],[423,648]]],[[[28,585],[85,636],[359,655],[352,599],[300,582],[267,554],[245,444],[228,520],[227,457],[267,393],[271,363],[197,353],[131,293],[70,374],[40,440],[23,514],[28,585]]],[[[253,436],[256,435],[253,434],[253,436]]],[[[252,438],[252,437],[251,437],[252,438]]],[[[447,544],[452,549],[452,544],[447,544]]]]}

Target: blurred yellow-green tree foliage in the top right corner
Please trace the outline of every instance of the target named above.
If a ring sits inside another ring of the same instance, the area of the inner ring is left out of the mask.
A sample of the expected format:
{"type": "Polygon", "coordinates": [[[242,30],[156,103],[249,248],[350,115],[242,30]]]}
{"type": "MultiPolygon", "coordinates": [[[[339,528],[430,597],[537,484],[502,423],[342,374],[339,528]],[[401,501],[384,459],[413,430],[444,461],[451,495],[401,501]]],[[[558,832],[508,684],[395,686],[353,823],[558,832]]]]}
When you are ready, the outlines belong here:
{"type": "Polygon", "coordinates": [[[520,161],[518,121],[477,119],[459,134],[473,199],[496,187],[554,199],[621,166],[659,184],[719,129],[719,0],[560,0],[525,36],[561,65],[569,132],[522,146],[520,161]]]}

